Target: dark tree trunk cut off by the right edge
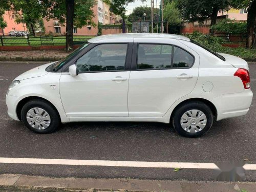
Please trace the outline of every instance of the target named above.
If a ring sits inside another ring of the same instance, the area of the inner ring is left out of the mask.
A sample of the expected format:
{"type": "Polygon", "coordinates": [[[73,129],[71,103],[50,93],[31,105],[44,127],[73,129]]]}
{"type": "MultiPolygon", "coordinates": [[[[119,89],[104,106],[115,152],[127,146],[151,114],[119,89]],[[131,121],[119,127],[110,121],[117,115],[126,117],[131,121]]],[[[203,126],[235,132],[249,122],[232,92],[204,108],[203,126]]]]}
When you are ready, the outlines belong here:
{"type": "Polygon", "coordinates": [[[256,1],[253,1],[251,6],[248,8],[247,14],[247,26],[246,26],[246,48],[252,48],[253,43],[253,32],[255,27],[256,18],[256,1]]]}

